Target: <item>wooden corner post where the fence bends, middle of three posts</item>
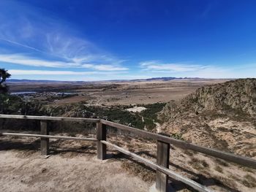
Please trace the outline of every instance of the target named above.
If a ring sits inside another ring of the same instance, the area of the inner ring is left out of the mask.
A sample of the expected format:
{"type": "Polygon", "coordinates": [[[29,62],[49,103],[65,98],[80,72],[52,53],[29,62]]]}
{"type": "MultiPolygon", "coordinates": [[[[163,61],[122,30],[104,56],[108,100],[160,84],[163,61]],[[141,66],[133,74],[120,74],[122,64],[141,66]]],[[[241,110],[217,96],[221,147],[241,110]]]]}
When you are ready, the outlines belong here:
{"type": "Polygon", "coordinates": [[[100,141],[107,139],[106,125],[102,124],[102,123],[97,123],[96,134],[97,134],[97,139],[98,139],[98,141],[97,141],[97,158],[104,160],[106,151],[107,151],[107,146],[100,141]]]}

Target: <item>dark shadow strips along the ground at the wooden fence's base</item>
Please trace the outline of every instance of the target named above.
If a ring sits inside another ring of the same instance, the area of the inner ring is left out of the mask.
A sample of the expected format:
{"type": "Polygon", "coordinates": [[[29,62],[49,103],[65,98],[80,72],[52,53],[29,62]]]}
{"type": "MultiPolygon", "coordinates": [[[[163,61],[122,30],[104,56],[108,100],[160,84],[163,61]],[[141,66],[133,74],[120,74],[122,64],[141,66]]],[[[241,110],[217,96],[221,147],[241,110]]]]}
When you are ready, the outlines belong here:
{"type": "MultiPolygon", "coordinates": [[[[90,154],[90,155],[96,155],[97,154],[97,147],[94,145],[84,145],[81,147],[75,146],[75,147],[61,147],[61,142],[59,140],[50,142],[50,155],[57,155],[57,154],[63,154],[63,153],[82,153],[82,154],[90,154]]],[[[33,142],[17,142],[17,141],[7,141],[7,140],[1,140],[0,139],[0,150],[30,150],[37,152],[40,150],[40,139],[36,139],[33,142]]],[[[152,155],[149,151],[140,151],[137,153],[138,155],[148,155],[151,158],[157,158],[156,155],[152,155]]],[[[150,167],[139,163],[138,161],[133,160],[128,155],[124,155],[122,153],[116,153],[116,150],[108,150],[108,154],[106,155],[106,159],[118,159],[118,160],[128,160],[131,161],[132,164],[137,164],[144,169],[149,170],[154,174],[154,169],[151,169],[150,167]]],[[[203,185],[210,186],[210,185],[219,185],[220,187],[224,188],[227,191],[233,191],[233,192],[239,192],[236,189],[230,188],[229,186],[225,185],[225,183],[222,183],[222,181],[217,180],[213,177],[206,177],[203,174],[195,174],[194,172],[181,167],[177,164],[173,164],[170,162],[170,166],[176,167],[176,169],[179,169],[181,172],[186,172],[187,174],[193,175],[196,179],[194,179],[197,183],[203,183],[203,185]]],[[[170,188],[172,188],[173,191],[181,191],[182,189],[189,189],[189,191],[195,191],[193,188],[189,187],[188,185],[185,185],[184,183],[181,183],[178,180],[169,179],[169,185],[170,188]]]]}

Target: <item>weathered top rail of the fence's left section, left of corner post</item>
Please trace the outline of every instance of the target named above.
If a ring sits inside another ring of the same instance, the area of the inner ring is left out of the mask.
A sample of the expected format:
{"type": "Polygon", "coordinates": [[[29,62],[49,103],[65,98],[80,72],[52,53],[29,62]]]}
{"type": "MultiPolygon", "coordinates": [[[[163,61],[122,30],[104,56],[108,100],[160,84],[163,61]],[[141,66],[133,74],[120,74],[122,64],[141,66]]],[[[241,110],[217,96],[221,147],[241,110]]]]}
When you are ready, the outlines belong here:
{"type": "Polygon", "coordinates": [[[64,118],[64,117],[31,116],[31,115],[0,115],[0,118],[30,119],[30,120],[63,120],[63,121],[88,122],[88,123],[99,122],[99,119],[94,119],[94,118],[64,118]]]}

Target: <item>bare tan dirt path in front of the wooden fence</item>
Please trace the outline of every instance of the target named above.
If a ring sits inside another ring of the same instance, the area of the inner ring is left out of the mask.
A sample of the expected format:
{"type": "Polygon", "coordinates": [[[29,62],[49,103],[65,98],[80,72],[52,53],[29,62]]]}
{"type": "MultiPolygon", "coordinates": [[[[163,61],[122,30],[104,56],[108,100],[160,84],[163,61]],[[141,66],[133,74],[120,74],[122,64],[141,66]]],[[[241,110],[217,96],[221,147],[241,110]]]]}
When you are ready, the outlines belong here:
{"type": "Polygon", "coordinates": [[[0,151],[0,191],[148,191],[148,183],[128,174],[121,162],[95,154],[51,155],[31,150],[0,151]]]}

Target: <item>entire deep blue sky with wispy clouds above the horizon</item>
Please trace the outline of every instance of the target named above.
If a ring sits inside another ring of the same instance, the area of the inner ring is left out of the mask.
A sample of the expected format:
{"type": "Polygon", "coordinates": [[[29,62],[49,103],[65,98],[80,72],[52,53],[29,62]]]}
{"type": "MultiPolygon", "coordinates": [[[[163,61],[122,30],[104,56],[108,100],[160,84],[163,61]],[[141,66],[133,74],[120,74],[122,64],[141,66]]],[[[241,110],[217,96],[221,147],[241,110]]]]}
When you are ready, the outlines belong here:
{"type": "Polygon", "coordinates": [[[256,1],[1,0],[15,79],[256,77],[256,1]]]}

